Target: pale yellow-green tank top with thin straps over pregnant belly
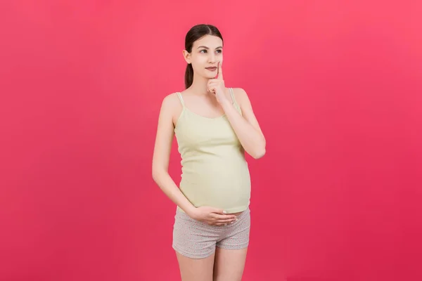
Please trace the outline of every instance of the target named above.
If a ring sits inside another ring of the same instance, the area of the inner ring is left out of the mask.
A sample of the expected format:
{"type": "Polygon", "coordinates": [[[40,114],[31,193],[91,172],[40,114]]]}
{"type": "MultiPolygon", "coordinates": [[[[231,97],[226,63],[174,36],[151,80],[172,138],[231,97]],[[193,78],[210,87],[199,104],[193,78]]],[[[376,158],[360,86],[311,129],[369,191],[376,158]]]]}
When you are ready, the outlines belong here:
{"type": "MultiPolygon", "coordinates": [[[[229,91],[242,114],[233,89],[229,91]]],[[[229,120],[225,115],[197,115],[185,107],[181,93],[177,96],[183,105],[174,128],[181,155],[181,192],[195,207],[216,207],[227,214],[245,211],[250,202],[250,174],[229,120]]]]}

